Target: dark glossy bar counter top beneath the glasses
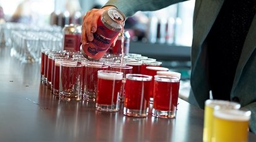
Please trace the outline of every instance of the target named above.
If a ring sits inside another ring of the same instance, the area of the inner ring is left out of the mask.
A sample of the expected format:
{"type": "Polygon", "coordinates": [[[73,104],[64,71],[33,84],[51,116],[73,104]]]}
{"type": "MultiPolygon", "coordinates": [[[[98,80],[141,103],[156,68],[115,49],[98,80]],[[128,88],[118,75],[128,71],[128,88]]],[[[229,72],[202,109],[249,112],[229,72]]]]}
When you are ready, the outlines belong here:
{"type": "Polygon", "coordinates": [[[0,47],[0,65],[0,141],[202,141],[204,110],[185,100],[175,119],[99,112],[93,102],[54,98],[40,83],[40,64],[21,63],[9,47],[0,47]]]}

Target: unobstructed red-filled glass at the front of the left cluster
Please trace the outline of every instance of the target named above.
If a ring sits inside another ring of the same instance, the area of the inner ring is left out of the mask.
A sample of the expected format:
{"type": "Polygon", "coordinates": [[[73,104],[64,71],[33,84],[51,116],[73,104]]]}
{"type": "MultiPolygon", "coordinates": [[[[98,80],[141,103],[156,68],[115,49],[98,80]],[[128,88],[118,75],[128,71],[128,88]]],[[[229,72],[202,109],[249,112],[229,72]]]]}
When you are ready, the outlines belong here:
{"type": "Polygon", "coordinates": [[[77,62],[61,62],[59,99],[72,101],[82,99],[82,65],[77,62]]]}

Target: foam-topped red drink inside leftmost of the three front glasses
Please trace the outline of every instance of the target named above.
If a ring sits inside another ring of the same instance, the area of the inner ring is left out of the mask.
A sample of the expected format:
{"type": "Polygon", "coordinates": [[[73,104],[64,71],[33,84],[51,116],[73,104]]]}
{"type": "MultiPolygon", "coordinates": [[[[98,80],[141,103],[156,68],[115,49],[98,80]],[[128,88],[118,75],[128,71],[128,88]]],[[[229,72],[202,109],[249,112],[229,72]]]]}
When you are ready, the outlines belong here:
{"type": "Polygon", "coordinates": [[[121,90],[123,74],[111,71],[98,74],[96,103],[101,105],[116,104],[121,90]]]}

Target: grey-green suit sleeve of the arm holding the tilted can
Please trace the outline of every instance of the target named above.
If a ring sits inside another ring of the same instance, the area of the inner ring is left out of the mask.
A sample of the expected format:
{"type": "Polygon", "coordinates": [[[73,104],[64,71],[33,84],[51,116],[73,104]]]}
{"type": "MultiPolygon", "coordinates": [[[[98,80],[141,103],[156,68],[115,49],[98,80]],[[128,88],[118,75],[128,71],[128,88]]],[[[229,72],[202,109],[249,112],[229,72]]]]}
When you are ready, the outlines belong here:
{"type": "Polygon", "coordinates": [[[115,6],[128,17],[137,11],[155,11],[182,1],[186,0],[109,0],[104,6],[115,6]]]}

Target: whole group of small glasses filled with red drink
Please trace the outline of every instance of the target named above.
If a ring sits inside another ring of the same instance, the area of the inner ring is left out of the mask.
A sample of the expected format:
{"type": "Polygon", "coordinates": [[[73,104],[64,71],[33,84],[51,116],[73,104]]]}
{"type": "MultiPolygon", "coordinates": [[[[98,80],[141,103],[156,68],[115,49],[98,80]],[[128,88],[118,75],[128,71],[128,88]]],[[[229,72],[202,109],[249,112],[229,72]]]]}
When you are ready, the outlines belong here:
{"type": "Polygon", "coordinates": [[[60,100],[93,101],[96,110],[107,112],[118,111],[124,102],[123,114],[147,117],[150,98],[155,98],[152,115],[174,118],[181,74],[161,66],[147,66],[142,74],[143,61],[127,57],[120,61],[119,56],[88,61],[80,52],[44,50],[41,77],[60,100]]]}

